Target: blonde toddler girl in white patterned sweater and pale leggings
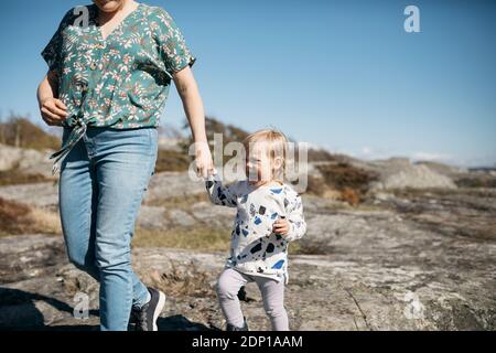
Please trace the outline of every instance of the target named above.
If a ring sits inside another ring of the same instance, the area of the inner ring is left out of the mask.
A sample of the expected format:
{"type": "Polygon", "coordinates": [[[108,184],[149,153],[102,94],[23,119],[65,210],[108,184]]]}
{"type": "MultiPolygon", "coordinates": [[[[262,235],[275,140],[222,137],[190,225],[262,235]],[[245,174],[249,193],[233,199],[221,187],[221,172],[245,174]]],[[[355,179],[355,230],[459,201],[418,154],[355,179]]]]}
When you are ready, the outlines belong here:
{"type": "Polygon", "coordinates": [[[284,309],[288,245],[306,231],[300,195],[283,179],[288,139],[282,132],[260,130],[244,141],[247,180],[223,185],[214,171],[206,189],[214,204],[237,207],[230,256],[217,282],[227,331],[247,331],[238,291],[255,281],[272,330],[289,330],[284,309]]]}

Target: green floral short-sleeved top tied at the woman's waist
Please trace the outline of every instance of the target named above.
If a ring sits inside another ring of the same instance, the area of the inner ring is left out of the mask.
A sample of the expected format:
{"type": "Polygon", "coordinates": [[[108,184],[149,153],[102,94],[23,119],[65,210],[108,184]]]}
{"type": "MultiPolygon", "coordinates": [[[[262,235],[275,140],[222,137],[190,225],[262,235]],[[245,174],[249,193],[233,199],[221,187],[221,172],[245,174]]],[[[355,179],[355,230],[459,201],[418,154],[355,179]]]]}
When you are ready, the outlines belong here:
{"type": "Polygon", "coordinates": [[[196,58],[171,15],[139,3],[104,40],[96,4],[71,9],[42,51],[58,76],[58,98],[72,129],[54,163],[83,137],[86,126],[158,127],[172,75],[196,58]]]}

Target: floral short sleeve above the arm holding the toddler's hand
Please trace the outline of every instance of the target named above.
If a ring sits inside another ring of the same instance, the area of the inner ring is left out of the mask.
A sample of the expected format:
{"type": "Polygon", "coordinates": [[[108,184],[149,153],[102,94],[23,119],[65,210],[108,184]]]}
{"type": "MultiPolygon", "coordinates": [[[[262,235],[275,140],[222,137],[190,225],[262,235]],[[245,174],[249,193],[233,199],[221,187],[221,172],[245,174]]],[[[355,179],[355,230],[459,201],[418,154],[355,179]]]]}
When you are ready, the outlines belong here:
{"type": "Polygon", "coordinates": [[[177,28],[172,17],[162,8],[158,15],[158,45],[161,60],[165,64],[165,69],[172,76],[186,66],[193,66],[196,57],[192,55],[186,46],[181,30],[177,28]]]}

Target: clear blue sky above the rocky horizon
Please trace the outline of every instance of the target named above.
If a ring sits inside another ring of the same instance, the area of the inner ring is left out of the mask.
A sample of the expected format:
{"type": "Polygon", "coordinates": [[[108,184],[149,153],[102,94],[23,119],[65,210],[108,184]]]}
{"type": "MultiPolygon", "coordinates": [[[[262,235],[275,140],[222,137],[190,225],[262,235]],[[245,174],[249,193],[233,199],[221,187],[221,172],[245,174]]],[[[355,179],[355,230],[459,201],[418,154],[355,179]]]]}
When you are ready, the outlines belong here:
{"type": "MultiPolygon", "coordinates": [[[[197,56],[206,114],[359,158],[496,163],[495,1],[148,0],[197,56]],[[403,10],[420,9],[420,33],[403,10]]],[[[40,52],[71,7],[9,1],[0,21],[0,114],[40,125],[40,52]]],[[[180,126],[171,89],[162,122],[180,126]]]]}

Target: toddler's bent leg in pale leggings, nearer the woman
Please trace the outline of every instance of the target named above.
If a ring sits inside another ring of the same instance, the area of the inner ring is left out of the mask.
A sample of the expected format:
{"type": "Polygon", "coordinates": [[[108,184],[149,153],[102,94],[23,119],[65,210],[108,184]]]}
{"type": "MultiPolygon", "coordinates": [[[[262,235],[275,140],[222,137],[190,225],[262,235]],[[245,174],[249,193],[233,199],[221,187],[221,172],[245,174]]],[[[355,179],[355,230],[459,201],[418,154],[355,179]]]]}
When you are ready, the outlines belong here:
{"type": "Polygon", "coordinates": [[[245,318],[241,312],[241,304],[238,299],[239,288],[245,286],[249,281],[249,278],[239,271],[227,268],[225,269],[217,282],[217,297],[219,300],[220,309],[227,323],[230,323],[237,328],[242,328],[245,318]]]}

